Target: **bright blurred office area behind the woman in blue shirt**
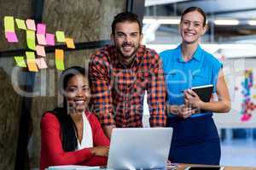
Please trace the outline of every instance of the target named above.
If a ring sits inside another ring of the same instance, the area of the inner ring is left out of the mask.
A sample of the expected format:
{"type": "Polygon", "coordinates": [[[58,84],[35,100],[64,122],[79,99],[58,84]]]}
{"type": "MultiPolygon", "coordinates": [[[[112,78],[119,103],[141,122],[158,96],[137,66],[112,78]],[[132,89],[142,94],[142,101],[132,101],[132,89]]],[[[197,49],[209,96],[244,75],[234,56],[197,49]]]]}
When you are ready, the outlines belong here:
{"type": "MultiPolygon", "coordinates": [[[[207,13],[201,45],[224,64],[232,109],[215,114],[223,165],[256,165],[256,3],[253,0],[145,0],[144,43],[157,52],[176,48],[180,14],[197,6],[207,13]]],[[[147,112],[145,112],[147,114],[147,112]]],[[[209,153],[210,154],[210,153],[209,153]]]]}

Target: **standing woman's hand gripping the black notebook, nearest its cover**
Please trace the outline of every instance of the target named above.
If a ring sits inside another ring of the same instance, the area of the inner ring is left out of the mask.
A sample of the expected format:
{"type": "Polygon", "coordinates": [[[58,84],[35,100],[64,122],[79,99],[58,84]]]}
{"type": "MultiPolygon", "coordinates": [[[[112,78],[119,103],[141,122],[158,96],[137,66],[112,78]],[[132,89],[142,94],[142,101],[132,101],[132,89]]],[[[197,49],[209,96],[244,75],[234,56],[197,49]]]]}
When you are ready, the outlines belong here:
{"type": "Polygon", "coordinates": [[[184,100],[185,105],[198,110],[201,109],[201,105],[204,103],[192,89],[187,89],[184,91],[184,100]]]}

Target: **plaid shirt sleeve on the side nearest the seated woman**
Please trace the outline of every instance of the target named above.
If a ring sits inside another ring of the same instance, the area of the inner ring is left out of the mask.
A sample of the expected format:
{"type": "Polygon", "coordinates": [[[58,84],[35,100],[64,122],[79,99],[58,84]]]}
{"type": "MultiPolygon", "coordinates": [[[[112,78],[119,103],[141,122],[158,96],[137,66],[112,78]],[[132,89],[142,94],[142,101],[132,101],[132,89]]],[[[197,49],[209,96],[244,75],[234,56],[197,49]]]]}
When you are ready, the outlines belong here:
{"type": "Polygon", "coordinates": [[[89,79],[91,90],[91,104],[93,112],[98,116],[103,126],[114,125],[113,99],[108,68],[107,57],[103,54],[92,55],[89,63],[89,79]]]}

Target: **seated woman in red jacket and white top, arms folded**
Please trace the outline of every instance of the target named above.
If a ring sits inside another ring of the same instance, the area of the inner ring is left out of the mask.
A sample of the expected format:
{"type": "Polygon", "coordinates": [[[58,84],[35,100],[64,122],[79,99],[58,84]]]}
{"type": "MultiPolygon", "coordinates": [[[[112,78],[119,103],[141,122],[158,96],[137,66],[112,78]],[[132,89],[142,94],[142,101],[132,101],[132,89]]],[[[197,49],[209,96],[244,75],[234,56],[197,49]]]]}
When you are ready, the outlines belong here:
{"type": "Polygon", "coordinates": [[[90,87],[84,68],[63,71],[61,94],[63,107],[46,112],[41,120],[40,170],[68,164],[106,165],[109,140],[88,111],[90,87]]]}

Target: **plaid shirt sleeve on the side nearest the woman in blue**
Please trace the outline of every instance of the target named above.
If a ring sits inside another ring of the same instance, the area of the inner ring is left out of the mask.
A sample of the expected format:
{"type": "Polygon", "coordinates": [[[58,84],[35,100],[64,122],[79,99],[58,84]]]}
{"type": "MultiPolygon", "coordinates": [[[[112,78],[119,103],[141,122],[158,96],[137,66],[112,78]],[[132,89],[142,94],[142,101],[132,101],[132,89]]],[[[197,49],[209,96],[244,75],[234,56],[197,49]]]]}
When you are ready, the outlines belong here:
{"type": "Polygon", "coordinates": [[[151,52],[150,79],[148,82],[148,106],[150,112],[150,127],[166,126],[166,84],[160,56],[151,52]]]}

